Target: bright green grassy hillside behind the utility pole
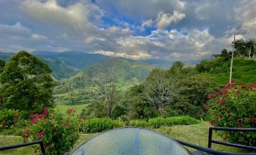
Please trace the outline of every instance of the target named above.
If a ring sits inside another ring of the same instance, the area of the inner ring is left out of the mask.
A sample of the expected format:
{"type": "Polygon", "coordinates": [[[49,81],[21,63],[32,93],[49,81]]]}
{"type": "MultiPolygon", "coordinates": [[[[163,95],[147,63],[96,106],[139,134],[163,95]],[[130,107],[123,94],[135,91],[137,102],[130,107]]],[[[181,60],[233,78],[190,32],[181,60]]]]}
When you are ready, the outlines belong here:
{"type": "MultiPolygon", "coordinates": [[[[207,74],[218,86],[224,86],[230,79],[230,59],[218,58],[202,61],[196,65],[202,74],[207,74]]],[[[254,59],[233,59],[233,76],[236,82],[251,83],[256,81],[256,61],[254,59]]]]}

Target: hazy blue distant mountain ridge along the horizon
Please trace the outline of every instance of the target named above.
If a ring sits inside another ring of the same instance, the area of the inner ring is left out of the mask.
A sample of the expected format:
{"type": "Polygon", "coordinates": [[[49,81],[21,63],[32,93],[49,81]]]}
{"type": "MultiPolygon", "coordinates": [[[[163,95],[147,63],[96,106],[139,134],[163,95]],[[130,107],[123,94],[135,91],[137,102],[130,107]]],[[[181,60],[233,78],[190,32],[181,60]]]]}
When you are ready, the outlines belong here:
{"type": "MultiPolygon", "coordinates": [[[[9,57],[15,53],[3,53],[0,52],[0,59],[8,60],[9,57]]],[[[105,56],[98,53],[85,53],[80,51],[43,51],[35,50],[31,53],[32,55],[38,56],[43,59],[49,67],[53,70],[54,78],[70,78],[72,75],[77,74],[79,71],[85,69],[88,65],[92,65],[95,62],[99,62],[107,59],[115,59],[111,56],[105,56]]],[[[125,58],[118,58],[125,59],[125,58]]],[[[171,66],[171,61],[163,61],[159,59],[147,59],[147,60],[131,60],[129,61],[140,62],[154,67],[168,68],[171,66]]]]}

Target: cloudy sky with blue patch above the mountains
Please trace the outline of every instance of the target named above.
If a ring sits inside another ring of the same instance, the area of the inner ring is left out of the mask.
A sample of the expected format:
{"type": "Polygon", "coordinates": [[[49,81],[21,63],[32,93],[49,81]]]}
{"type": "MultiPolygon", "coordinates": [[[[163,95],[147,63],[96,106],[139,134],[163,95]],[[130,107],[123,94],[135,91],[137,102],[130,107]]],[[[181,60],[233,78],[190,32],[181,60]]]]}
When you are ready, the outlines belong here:
{"type": "Polygon", "coordinates": [[[0,51],[187,61],[256,38],[256,0],[0,0],[0,51]]]}

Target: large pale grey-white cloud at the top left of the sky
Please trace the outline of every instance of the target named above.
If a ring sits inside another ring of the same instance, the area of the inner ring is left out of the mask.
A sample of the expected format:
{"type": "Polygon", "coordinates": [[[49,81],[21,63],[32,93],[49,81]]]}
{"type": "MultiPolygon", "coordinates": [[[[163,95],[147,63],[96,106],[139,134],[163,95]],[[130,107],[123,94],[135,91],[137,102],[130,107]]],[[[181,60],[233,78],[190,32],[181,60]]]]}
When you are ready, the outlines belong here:
{"type": "Polygon", "coordinates": [[[63,8],[56,0],[26,0],[20,4],[20,8],[30,17],[45,23],[59,24],[74,30],[91,28],[88,22],[91,7],[88,3],[77,2],[63,8]]]}

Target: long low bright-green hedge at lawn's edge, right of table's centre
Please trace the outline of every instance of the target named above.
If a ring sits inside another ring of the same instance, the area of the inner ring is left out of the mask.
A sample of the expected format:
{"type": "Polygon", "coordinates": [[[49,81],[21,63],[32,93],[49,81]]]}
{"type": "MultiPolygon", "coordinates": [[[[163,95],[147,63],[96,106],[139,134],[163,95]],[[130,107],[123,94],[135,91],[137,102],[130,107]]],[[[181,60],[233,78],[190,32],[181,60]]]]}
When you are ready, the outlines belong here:
{"type": "Polygon", "coordinates": [[[193,117],[181,116],[181,117],[156,117],[149,120],[150,126],[159,128],[160,126],[177,126],[177,125],[192,125],[198,124],[200,120],[196,120],[193,117]]]}

